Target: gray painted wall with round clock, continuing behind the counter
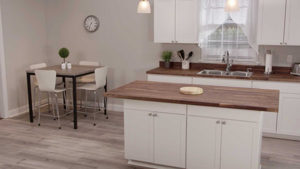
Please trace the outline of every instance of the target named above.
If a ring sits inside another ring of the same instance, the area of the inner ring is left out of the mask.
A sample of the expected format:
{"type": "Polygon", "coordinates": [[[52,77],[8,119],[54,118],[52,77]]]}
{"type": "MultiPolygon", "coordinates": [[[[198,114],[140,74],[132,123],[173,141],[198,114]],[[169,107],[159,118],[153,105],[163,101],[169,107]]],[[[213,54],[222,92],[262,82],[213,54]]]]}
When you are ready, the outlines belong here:
{"type": "MultiPolygon", "coordinates": [[[[158,66],[163,50],[193,51],[198,62],[197,44],[153,43],[153,1],[151,14],[137,13],[139,0],[1,0],[5,59],[8,77],[9,110],[27,105],[25,70],[29,65],[45,62],[60,64],[58,50],[70,50],[67,61],[98,61],[107,65],[108,90],[134,80],[147,80],[146,71],[158,66]],[[96,15],[101,26],[88,33],[83,21],[96,15]]],[[[271,50],[274,66],[300,62],[298,46],[260,46],[259,62],[271,50]]],[[[179,58],[174,58],[179,60],[179,58]]],[[[110,104],[122,100],[108,99],[110,104]]]]}

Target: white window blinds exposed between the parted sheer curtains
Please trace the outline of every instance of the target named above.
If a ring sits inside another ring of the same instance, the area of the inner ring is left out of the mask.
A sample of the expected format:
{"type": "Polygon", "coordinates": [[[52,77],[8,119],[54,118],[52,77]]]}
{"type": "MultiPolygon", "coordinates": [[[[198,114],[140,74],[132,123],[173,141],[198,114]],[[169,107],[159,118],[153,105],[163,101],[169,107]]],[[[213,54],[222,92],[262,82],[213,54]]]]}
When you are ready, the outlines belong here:
{"type": "Polygon", "coordinates": [[[229,51],[230,60],[256,62],[257,54],[248,38],[231,17],[202,41],[201,60],[222,61],[222,54],[229,51]]]}

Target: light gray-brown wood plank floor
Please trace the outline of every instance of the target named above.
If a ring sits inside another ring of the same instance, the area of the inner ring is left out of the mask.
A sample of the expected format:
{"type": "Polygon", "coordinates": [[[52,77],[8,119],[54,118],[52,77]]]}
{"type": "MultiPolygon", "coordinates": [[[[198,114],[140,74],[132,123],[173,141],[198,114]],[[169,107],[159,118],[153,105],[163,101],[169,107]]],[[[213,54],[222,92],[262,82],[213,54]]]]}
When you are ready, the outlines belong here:
{"type": "MultiPolygon", "coordinates": [[[[109,111],[109,119],[78,113],[58,121],[42,116],[41,126],[29,123],[28,113],[0,120],[0,169],[2,168],[143,168],[124,159],[123,112],[109,111]]],[[[300,169],[300,142],[262,139],[262,169],[300,169]]]]}

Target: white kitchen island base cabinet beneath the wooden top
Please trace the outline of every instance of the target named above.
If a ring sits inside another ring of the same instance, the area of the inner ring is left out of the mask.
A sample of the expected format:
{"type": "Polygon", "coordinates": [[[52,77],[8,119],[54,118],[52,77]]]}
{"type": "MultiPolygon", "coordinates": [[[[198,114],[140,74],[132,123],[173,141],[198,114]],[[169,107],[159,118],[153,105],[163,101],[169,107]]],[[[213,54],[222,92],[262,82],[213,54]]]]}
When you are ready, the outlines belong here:
{"type": "Polygon", "coordinates": [[[158,110],[160,102],[124,100],[128,164],[153,168],[260,168],[263,112],[184,105],[186,109],[175,114],[166,108],[173,110],[172,106],[180,104],[164,104],[158,110]],[[151,111],[153,107],[157,111],[151,111]]]}

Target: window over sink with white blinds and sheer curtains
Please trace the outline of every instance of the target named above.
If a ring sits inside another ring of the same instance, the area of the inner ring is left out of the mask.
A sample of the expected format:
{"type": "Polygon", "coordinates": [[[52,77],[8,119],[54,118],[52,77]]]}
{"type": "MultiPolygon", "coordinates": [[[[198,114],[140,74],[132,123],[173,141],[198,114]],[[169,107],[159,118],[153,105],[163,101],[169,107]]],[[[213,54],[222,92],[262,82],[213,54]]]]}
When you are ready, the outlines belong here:
{"type": "Polygon", "coordinates": [[[239,0],[240,11],[224,12],[226,0],[200,0],[199,47],[202,62],[257,63],[257,0],[239,0]]]}

